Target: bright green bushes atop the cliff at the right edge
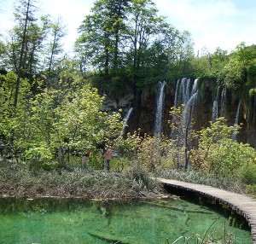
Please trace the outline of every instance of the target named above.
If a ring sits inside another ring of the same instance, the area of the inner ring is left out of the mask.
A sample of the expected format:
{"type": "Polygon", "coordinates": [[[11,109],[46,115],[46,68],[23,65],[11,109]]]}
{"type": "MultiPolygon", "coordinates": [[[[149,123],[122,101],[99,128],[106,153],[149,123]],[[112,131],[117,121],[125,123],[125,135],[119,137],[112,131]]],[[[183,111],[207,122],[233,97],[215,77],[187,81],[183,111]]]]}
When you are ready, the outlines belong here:
{"type": "Polygon", "coordinates": [[[255,86],[255,45],[241,43],[228,55],[227,51],[216,49],[213,54],[207,50],[191,60],[192,73],[197,78],[224,83],[230,90],[247,90],[255,86]]]}

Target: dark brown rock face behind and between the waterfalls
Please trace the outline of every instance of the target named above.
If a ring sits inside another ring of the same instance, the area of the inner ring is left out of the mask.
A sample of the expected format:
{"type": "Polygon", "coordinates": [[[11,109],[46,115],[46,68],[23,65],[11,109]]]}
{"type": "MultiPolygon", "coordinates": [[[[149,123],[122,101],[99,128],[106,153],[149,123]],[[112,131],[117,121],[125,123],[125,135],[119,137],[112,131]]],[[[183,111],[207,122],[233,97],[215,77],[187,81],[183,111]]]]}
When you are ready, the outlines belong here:
{"type": "MultiPolygon", "coordinates": [[[[111,113],[122,109],[122,117],[125,118],[125,114],[132,107],[132,112],[127,122],[128,127],[125,129],[125,132],[133,133],[140,128],[142,133],[154,135],[158,89],[159,87],[155,85],[136,91],[127,90],[123,97],[108,98],[107,96],[102,110],[106,110],[111,113]]],[[[175,96],[177,95],[176,89],[176,85],[168,83],[164,88],[165,99],[162,109],[161,131],[166,136],[171,135],[168,120],[172,119],[169,112],[170,108],[173,107],[175,103],[175,96]]],[[[241,99],[238,92],[224,89],[225,88],[219,89],[219,95],[217,97],[218,85],[215,82],[210,80],[199,81],[198,94],[193,110],[195,130],[201,130],[201,128],[209,125],[209,121],[212,121],[213,102],[218,99],[218,117],[222,116],[227,119],[228,125],[234,125],[236,123],[236,119],[238,124],[242,123],[241,131],[236,136],[237,141],[249,143],[256,148],[256,107],[252,107],[251,111],[249,111],[247,97],[243,97],[241,99]],[[241,104],[239,113],[237,113],[239,102],[241,102],[241,104]],[[248,119],[248,113],[253,113],[254,118],[248,119]]]]}

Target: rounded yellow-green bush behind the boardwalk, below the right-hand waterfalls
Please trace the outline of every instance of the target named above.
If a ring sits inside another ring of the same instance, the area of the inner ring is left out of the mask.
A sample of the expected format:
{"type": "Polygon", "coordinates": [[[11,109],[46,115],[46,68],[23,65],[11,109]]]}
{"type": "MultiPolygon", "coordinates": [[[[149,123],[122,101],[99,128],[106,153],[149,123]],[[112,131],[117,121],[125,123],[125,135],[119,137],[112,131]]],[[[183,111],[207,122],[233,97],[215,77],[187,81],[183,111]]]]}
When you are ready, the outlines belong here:
{"type": "Polygon", "coordinates": [[[223,177],[237,177],[241,167],[251,161],[255,149],[231,139],[238,125],[228,126],[219,118],[200,131],[198,148],[193,148],[191,161],[195,170],[210,172],[223,177]]]}

